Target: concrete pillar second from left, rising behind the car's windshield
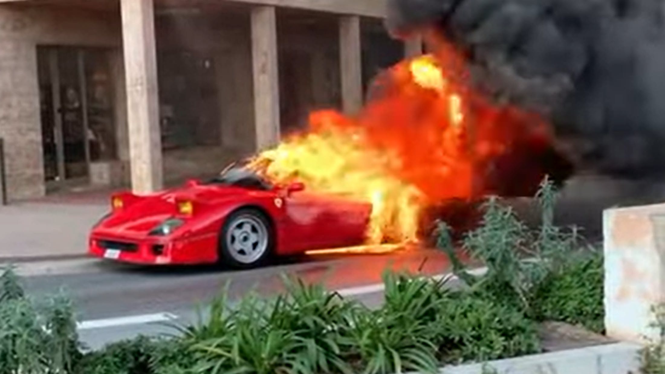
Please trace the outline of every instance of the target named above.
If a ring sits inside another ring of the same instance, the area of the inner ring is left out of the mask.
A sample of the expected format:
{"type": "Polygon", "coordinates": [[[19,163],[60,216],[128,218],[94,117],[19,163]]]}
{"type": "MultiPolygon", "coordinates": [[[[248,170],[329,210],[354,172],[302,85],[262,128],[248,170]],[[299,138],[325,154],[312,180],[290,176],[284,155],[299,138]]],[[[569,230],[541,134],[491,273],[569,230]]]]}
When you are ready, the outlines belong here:
{"type": "Polygon", "coordinates": [[[279,74],[275,7],[251,10],[254,126],[257,149],[279,142],[279,74]]]}

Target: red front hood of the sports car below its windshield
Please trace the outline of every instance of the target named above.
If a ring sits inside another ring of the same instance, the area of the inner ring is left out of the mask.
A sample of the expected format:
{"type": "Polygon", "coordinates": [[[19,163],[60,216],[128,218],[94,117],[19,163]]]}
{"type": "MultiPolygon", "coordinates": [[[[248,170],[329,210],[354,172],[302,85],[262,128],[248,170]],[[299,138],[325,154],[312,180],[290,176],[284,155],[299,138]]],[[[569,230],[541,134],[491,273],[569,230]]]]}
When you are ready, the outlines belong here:
{"type": "Polygon", "coordinates": [[[257,193],[265,191],[223,185],[196,185],[170,189],[139,197],[128,207],[108,217],[99,228],[116,233],[147,234],[164,220],[178,213],[178,201],[191,201],[197,214],[207,211],[210,207],[247,199],[257,193]]]}

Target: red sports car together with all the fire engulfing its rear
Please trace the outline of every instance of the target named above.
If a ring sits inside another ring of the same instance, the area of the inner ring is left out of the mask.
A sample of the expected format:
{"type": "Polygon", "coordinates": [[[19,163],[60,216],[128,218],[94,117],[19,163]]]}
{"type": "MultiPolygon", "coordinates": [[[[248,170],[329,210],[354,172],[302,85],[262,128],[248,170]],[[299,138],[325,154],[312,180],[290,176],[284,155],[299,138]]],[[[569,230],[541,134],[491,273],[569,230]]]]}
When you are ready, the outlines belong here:
{"type": "Polygon", "coordinates": [[[477,221],[486,195],[531,196],[545,175],[563,183],[573,164],[549,124],[489,100],[467,75],[454,49],[404,60],[355,116],[313,112],[307,130],[207,183],[114,195],[90,253],[250,267],[317,248],[416,242],[438,218],[477,221]]]}

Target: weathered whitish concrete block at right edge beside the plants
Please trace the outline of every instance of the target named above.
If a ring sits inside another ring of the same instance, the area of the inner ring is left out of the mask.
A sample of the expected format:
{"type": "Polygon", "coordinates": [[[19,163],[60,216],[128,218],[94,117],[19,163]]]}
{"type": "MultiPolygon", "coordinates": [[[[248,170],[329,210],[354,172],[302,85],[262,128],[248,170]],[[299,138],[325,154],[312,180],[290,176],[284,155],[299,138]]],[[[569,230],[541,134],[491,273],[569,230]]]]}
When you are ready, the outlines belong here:
{"type": "Polygon", "coordinates": [[[651,308],[665,302],[665,204],[607,209],[602,218],[606,333],[656,339],[651,308]]]}

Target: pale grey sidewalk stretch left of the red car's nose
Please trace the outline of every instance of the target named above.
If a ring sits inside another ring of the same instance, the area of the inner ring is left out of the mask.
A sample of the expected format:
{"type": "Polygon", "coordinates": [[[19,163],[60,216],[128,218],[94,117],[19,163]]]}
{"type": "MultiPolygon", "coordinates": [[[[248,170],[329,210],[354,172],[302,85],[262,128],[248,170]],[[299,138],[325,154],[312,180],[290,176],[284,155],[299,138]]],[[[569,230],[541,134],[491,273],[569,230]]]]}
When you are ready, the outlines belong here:
{"type": "Polygon", "coordinates": [[[0,263],[85,256],[90,227],[108,197],[45,199],[0,207],[0,263]]]}

